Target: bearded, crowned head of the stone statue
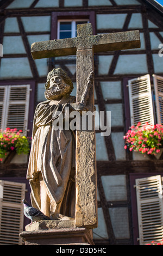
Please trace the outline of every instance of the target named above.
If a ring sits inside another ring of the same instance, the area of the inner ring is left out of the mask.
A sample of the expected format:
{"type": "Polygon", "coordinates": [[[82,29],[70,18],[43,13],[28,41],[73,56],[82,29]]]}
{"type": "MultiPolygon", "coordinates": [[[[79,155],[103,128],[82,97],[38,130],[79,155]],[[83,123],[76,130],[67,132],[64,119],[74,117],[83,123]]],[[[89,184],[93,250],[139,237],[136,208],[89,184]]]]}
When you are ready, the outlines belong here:
{"type": "Polygon", "coordinates": [[[53,69],[47,75],[45,89],[46,99],[57,100],[66,94],[71,94],[73,83],[64,70],[53,69]]]}

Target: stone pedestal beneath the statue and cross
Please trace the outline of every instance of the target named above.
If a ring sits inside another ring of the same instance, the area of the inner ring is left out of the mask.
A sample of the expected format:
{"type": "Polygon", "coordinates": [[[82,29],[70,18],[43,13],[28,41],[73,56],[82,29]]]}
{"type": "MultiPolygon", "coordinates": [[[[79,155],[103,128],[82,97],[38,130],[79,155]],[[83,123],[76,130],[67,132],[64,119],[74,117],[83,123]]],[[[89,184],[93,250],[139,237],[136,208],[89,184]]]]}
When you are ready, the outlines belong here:
{"type": "Polygon", "coordinates": [[[27,225],[20,236],[25,245],[95,245],[92,230],[75,227],[74,220],[39,221],[27,225]]]}

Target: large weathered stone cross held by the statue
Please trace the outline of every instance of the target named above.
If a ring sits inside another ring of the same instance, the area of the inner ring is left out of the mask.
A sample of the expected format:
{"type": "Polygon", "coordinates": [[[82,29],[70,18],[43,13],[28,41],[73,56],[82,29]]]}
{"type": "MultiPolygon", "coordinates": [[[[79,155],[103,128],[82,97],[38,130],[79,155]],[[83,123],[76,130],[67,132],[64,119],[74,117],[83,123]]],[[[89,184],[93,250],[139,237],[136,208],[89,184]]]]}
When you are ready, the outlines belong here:
{"type": "MultiPolygon", "coordinates": [[[[88,78],[93,73],[94,52],[140,47],[139,31],[92,34],[91,23],[77,26],[77,37],[34,42],[34,59],[77,54],[77,102],[82,102],[88,78]]],[[[87,106],[94,110],[94,81],[87,106]]],[[[94,121],[93,121],[94,123],[94,121]]],[[[93,124],[95,127],[95,125],[93,124]]],[[[76,227],[97,227],[97,185],[95,129],[76,133],[76,227]]]]}

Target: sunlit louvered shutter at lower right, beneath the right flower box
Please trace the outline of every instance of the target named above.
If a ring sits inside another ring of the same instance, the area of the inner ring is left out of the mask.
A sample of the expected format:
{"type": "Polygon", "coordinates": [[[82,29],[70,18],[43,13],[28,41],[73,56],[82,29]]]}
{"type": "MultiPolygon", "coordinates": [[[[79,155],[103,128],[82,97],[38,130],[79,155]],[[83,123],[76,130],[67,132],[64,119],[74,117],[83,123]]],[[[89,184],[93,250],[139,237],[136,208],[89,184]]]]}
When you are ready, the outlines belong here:
{"type": "Polygon", "coordinates": [[[136,179],[140,245],[163,239],[161,176],[136,179]]]}

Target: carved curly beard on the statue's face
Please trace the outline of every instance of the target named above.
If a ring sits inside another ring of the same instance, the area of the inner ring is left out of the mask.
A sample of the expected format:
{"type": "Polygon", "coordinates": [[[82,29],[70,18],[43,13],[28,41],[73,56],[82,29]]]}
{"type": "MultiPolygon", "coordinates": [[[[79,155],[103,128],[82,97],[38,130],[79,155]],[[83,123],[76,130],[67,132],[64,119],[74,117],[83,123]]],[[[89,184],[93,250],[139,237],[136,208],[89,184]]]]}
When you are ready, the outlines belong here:
{"type": "Polygon", "coordinates": [[[46,89],[44,94],[47,100],[59,100],[62,96],[70,94],[70,86],[66,83],[54,83],[53,87],[46,89]]]}

